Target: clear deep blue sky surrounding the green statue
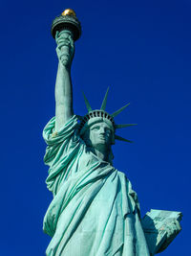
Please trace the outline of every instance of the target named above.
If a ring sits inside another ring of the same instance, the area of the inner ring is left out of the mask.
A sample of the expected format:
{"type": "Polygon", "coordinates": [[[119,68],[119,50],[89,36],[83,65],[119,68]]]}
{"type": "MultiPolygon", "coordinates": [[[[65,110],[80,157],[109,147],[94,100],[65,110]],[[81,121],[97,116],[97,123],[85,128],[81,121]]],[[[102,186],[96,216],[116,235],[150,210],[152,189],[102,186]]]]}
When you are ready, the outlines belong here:
{"type": "Polygon", "coordinates": [[[83,90],[108,112],[131,105],[117,123],[138,123],[118,135],[115,167],[151,208],[182,211],[182,231],[161,253],[187,256],[190,244],[191,2],[4,1],[1,4],[0,255],[41,256],[50,238],[42,221],[52,199],[41,133],[54,114],[57,69],[53,18],[73,8],[82,24],[72,70],[74,112],[86,113],[83,90]]]}

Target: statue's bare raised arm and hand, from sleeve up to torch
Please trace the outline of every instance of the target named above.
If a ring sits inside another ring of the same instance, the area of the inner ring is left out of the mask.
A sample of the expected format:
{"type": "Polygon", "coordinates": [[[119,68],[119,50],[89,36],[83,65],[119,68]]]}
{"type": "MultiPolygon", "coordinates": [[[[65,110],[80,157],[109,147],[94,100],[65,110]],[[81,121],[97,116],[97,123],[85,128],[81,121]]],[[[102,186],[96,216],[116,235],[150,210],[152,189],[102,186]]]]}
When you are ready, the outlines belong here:
{"type": "Polygon", "coordinates": [[[74,58],[74,40],[70,31],[56,33],[58,69],[55,82],[55,131],[74,115],[71,64],[74,58]]]}

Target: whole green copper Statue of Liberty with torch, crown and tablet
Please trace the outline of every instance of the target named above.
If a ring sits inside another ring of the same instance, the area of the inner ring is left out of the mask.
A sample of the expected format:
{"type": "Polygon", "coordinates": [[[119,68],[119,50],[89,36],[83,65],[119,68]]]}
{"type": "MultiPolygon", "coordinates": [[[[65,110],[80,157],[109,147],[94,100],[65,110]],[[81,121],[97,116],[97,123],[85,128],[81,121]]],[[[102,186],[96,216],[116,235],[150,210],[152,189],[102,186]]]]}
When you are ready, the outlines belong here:
{"type": "Polygon", "coordinates": [[[71,65],[74,40],[80,36],[74,11],[67,10],[53,21],[52,34],[58,70],[55,117],[43,131],[48,144],[44,161],[50,167],[46,183],[53,193],[43,223],[44,232],[52,237],[46,255],[153,255],[179,233],[180,213],[158,226],[162,236],[155,224],[166,219],[160,218],[160,211],[153,210],[140,220],[137,194],[112,163],[115,140],[130,142],[116,135],[116,130],[132,125],[117,125],[114,120],[127,105],[109,114],[105,111],[108,91],[98,110],[92,110],[84,95],[88,114],[74,115],[71,65]]]}

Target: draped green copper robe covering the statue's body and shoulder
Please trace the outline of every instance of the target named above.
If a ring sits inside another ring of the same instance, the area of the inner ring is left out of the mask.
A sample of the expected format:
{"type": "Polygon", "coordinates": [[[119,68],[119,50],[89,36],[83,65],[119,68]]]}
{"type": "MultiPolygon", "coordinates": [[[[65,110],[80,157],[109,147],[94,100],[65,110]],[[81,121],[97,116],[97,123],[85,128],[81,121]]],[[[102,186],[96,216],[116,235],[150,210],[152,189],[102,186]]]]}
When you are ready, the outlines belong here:
{"type": "Polygon", "coordinates": [[[43,131],[53,192],[43,223],[52,237],[46,255],[150,255],[130,181],[89,150],[77,127],[74,116],[54,132],[53,118],[43,131]]]}

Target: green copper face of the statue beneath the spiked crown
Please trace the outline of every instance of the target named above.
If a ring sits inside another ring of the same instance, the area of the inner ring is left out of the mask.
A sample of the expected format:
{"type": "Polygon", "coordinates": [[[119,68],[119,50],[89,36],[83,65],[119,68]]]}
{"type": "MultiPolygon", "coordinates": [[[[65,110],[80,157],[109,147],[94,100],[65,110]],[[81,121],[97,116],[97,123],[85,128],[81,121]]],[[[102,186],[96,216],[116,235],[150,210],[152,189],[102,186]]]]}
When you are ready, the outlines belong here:
{"type": "Polygon", "coordinates": [[[89,140],[94,148],[110,147],[112,145],[112,139],[113,131],[106,123],[99,122],[90,127],[89,140]]]}

